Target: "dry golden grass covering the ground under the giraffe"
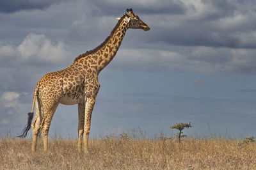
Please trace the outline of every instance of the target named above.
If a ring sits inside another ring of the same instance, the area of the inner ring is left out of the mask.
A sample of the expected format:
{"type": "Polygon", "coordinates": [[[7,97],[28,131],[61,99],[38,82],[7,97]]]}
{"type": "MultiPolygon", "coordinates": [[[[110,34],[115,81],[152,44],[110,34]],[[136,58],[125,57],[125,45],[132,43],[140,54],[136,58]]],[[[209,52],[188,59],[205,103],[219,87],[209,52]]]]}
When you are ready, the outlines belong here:
{"type": "Polygon", "coordinates": [[[77,153],[76,141],[54,139],[49,151],[31,153],[31,140],[0,139],[0,169],[256,169],[256,144],[230,139],[90,141],[90,155],[77,153]]]}

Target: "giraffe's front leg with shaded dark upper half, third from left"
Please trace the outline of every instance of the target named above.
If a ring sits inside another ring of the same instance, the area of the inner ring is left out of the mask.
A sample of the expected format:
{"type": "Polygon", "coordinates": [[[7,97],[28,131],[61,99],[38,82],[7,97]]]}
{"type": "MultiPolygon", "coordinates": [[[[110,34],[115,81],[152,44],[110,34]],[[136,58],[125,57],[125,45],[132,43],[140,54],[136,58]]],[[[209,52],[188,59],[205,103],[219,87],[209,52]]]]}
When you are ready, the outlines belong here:
{"type": "Polygon", "coordinates": [[[77,150],[82,150],[82,141],[83,141],[83,134],[84,134],[84,109],[85,104],[78,104],[78,143],[77,143],[77,150]]]}

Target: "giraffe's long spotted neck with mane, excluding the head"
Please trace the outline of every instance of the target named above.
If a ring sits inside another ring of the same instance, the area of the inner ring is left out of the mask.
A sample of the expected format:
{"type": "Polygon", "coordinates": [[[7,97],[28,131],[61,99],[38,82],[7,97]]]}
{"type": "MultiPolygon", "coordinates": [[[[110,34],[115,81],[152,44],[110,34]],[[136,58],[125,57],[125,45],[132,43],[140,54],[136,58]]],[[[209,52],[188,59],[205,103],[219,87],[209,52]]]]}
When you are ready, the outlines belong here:
{"type": "MultiPolygon", "coordinates": [[[[127,15],[121,17],[114,29],[111,31],[111,34],[104,42],[95,49],[78,56],[74,63],[82,65],[84,63],[88,67],[93,68],[93,70],[95,69],[99,74],[99,72],[115,57],[128,29],[128,22],[129,17],[127,17],[127,15]]],[[[87,66],[86,68],[88,68],[87,66]]]]}

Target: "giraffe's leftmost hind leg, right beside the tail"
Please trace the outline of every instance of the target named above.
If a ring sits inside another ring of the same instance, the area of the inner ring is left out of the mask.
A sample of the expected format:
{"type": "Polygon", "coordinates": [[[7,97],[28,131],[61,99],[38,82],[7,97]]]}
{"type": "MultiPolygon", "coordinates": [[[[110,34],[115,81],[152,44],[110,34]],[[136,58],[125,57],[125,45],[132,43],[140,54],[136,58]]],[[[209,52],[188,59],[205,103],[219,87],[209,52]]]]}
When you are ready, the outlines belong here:
{"type": "Polygon", "coordinates": [[[36,116],[35,116],[33,125],[31,126],[33,130],[32,151],[36,151],[37,136],[40,130],[40,120],[42,118],[41,107],[40,107],[40,104],[38,103],[38,99],[36,99],[35,103],[36,103],[36,116]]]}

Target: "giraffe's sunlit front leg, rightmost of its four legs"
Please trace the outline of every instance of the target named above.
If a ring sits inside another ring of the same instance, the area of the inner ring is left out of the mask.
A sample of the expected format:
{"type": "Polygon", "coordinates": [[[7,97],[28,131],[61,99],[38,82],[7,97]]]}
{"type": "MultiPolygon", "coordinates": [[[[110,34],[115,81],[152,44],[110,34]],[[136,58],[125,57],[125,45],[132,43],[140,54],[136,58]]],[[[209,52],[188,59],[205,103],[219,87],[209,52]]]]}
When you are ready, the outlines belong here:
{"type": "Polygon", "coordinates": [[[89,143],[89,134],[91,128],[91,118],[92,118],[92,111],[95,104],[95,98],[87,98],[86,106],[85,106],[85,113],[86,117],[84,120],[84,153],[88,153],[88,143],[89,143]]]}

